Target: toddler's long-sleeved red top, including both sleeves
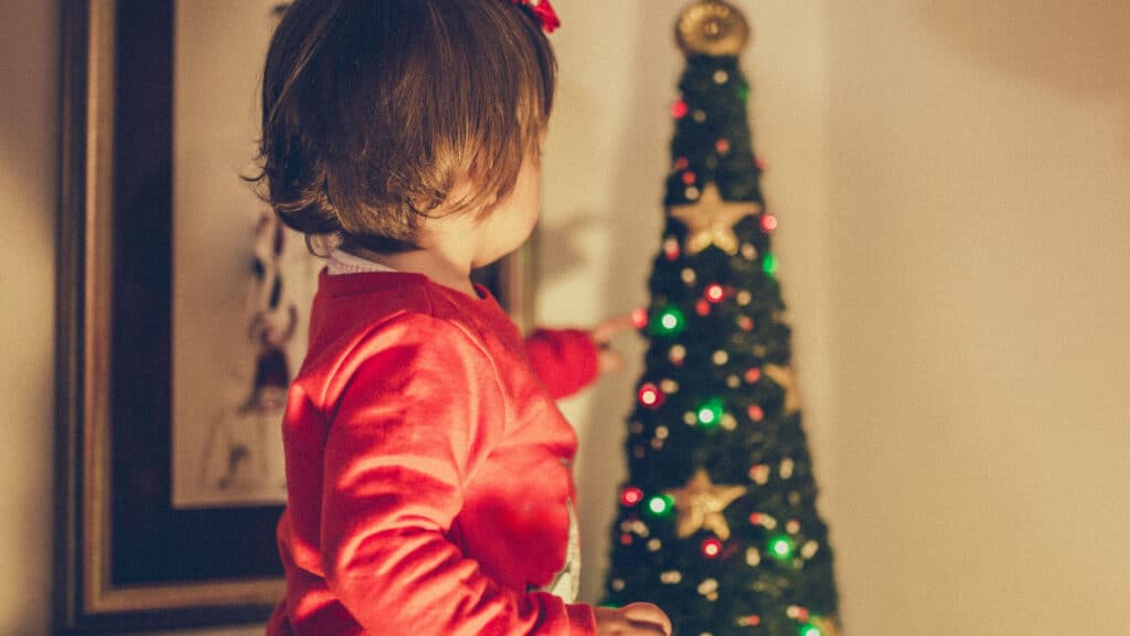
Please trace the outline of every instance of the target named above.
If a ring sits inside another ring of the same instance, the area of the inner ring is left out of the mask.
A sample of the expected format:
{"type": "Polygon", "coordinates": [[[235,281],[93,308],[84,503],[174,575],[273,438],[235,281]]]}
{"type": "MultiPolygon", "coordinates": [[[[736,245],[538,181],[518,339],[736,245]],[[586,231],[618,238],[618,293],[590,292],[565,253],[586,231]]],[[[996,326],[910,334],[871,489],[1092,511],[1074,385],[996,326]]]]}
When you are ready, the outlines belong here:
{"type": "Polygon", "coordinates": [[[586,334],[527,346],[493,299],[423,275],[323,273],[282,423],[268,634],[596,634],[589,605],[530,591],[565,565],[575,501],[553,397],[596,360],[586,334]]]}

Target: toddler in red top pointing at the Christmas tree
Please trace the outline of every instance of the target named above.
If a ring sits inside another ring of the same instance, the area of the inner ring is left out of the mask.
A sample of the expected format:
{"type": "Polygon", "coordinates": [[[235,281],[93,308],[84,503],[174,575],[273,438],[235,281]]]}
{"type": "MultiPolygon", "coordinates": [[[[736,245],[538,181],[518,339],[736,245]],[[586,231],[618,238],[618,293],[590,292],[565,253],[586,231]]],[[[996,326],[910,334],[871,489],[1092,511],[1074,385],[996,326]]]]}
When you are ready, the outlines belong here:
{"type": "Polygon", "coordinates": [[[554,398],[618,327],[523,341],[470,270],[539,201],[548,0],[298,0],[263,77],[262,181],[328,256],[282,423],[279,635],[670,635],[575,604],[554,398]],[[577,363],[580,362],[580,363],[577,363]]]}

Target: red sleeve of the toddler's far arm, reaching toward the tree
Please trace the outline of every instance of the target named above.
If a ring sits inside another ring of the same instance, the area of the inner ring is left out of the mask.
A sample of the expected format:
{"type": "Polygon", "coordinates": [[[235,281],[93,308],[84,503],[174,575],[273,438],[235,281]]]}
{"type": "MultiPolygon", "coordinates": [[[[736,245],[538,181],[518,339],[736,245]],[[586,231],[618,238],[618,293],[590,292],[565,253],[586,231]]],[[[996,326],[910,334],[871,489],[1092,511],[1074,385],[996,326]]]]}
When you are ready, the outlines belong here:
{"type": "Polygon", "coordinates": [[[597,343],[581,329],[538,329],[525,338],[525,356],[554,399],[589,386],[599,371],[597,343]]]}

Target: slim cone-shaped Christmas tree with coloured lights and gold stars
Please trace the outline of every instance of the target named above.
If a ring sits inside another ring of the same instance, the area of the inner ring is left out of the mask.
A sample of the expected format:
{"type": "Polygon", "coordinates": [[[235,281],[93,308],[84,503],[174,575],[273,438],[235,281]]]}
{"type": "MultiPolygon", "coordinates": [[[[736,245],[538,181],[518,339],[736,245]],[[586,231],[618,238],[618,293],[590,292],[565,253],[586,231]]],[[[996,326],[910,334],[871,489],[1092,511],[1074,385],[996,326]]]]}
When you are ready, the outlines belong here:
{"type": "Polygon", "coordinates": [[[650,346],[607,602],[653,602],[680,636],[832,636],[832,552],[791,371],[777,221],[738,66],[749,27],[702,0],[676,33],[687,67],[662,249],[635,316],[650,346]]]}

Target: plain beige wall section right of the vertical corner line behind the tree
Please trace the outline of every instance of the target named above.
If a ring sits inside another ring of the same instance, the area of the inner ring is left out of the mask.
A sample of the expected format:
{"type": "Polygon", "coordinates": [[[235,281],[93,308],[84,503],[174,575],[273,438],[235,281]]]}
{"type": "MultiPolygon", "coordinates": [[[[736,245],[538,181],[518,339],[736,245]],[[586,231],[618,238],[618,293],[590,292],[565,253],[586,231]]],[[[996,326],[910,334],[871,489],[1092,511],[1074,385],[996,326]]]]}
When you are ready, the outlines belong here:
{"type": "Polygon", "coordinates": [[[1123,634],[1130,3],[825,7],[852,634],[1123,634]]]}

